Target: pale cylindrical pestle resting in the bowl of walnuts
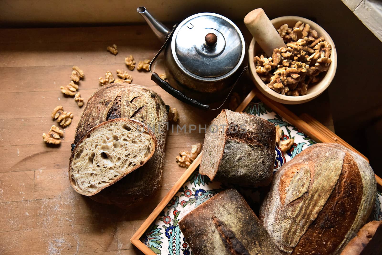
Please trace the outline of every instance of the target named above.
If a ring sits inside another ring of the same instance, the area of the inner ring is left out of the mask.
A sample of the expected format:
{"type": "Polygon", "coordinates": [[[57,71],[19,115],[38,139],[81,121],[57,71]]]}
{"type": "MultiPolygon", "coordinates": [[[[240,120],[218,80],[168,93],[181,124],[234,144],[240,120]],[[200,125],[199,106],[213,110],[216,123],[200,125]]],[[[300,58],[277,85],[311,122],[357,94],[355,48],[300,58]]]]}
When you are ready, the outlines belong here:
{"type": "Polygon", "coordinates": [[[268,57],[272,56],[275,48],[286,46],[263,9],[248,13],[244,17],[244,24],[268,57]]]}

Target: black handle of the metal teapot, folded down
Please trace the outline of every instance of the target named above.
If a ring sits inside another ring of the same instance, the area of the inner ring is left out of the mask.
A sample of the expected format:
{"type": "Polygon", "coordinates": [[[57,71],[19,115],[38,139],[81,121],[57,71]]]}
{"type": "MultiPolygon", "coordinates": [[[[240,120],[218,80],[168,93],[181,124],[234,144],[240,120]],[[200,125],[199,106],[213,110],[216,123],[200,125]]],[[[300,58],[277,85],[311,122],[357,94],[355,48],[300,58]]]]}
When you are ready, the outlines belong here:
{"type": "Polygon", "coordinates": [[[173,27],[172,27],[172,30],[171,32],[168,34],[166,40],[165,40],[165,43],[162,45],[162,47],[160,48],[159,52],[154,56],[154,58],[151,60],[150,62],[150,66],[149,66],[149,69],[150,69],[150,72],[151,72],[151,80],[154,81],[156,84],[158,84],[162,89],[164,89],[167,93],[169,93],[170,95],[172,95],[173,97],[179,99],[180,101],[182,102],[185,102],[185,103],[189,103],[189,104],[192,104],[192,105],[195,105],[196,107],[199,107],[199,108],[202,108],[202,109],[207,109],[207,110],[210,110],[210,106],[209,105],[204,105],[202,103],[199,103],[197,102],[196,100],[194,99],[191,99],[189,97],[186,97],[182,92],[180,92],[179,90],[176,90],[174,89],[173,87],[171,87],[171,85],[163,80],[161,77],[159,77],[159,75],[157,73],[154,73],[151,71],[151,66],[152,64],[154,63],[154,61],[157,59],[157,57],[159,56],[159,54],[162,52],[162,50],[165,48],[168,40],[171,38],[176,26],[178,24],[175,24],[173,27]]]}

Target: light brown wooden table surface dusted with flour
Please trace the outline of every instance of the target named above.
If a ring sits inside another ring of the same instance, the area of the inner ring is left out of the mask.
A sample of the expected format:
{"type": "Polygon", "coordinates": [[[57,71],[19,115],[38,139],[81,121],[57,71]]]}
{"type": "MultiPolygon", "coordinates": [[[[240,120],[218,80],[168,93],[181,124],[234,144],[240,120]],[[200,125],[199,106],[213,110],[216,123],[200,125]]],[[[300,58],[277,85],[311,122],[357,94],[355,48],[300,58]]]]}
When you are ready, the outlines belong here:
{"type": "MultiPolygon", "coordinates": [[[[244,31],[243,31],[244,32],[244,31]]],[[[248,33],[244,32],[249,40],[248,33]]],[[[160,191],[132,210],[102,205],[77,194],[68,181],[70,144],[81,112],[60,92],[70,82],[71,67],[85,73],[79,92],[87,98],[106,71],[125,69],[124,59],[151,59],[161,44],[148,26],[50,29],[0,29],[0,254],[140,254],[129,239],[185,171],[175,161],[180,150],[202,142],[198,132],[168,134],[160,191]],[[106,51],[117,44],[118,55],[106,51]],[[47,146],[42,133],[57,124],[50,117],[57,105],[73,112],[58,147],[47,146]]],[[[163,58],[155,71],[163,73],[163,58]]],[[[207,124],[218,112],[197,110],[167,94],[146,72],[129,71],[133,83],[158,92],[180,113],[178,124],[207,124]]],[[[244,79],[248,82],[249,79],[244,79]]],[[[303,106],[333,131],[327,93],[303,106]]]]}

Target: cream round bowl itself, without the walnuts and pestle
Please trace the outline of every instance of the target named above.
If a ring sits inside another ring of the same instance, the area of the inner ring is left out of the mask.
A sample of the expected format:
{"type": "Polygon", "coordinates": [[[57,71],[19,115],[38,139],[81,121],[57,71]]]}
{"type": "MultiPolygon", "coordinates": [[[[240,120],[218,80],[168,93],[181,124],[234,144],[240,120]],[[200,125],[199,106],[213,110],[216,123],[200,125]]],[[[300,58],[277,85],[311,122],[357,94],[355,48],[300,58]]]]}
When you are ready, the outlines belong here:
{"type": "Polygon", "coordinates": [[[306,95],[301,95],[298,97],[282,95],[267,87],[267,85],[265,85],[265,83],[261,81],[259,75],[257,75],[255,63],[253,61],[254,56],[256,56],[257,53],[262,52],[262,50],[260,46],[256,43],[255,38],[252,39],[251,44],[249,45],[249,70],[257,89],[259,89],[265,96],[269,97],[270,99],[276,102],[290,105],[305,103],[318,97],[322,92],[324,92],[325,89],[327,89],[327,87],[329,87],[330,82],[332,82],[333,77],[335,75],[335,71],[337,69],[337,52],[335,49],[334,42],[329,36],[329,34],[318,24],[314,23],[309,19],[298,16],[282,16],[271,20],[272,24],[276,29],[278,29],[283,24],[288,24],[289,27],[293,27],[297,21],[309,24],[311,29],[317,31],[319,37],[323,36],[325,40],[329,42],[330,45],[332,45],[332,54],[330,55],[332,63],[330,63],[328,71],[318,83],[308,86],[308,92],[306,95]]]}

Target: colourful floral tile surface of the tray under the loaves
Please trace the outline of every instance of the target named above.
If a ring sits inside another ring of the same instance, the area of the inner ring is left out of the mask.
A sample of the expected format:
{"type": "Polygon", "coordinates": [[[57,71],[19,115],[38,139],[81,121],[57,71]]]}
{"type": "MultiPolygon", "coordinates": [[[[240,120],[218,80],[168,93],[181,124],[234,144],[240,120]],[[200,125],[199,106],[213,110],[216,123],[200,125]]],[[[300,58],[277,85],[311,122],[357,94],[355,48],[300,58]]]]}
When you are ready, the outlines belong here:
{"type": "MultiPolygon", "coordinates": [[[[244,112],[267,119],[275,124],[275,126],[279,125],[283,131],[282,140],[295,139],[290,150],[285,153],[280,150],[278,145],[275,146],[276,160],[274,172],[305,148],[316,144],[314,140],[285,121],[262,102],[249,103],[244,112]]],[[[146,233],[141,237],[141,241],[159,255],[193,254],[180,231],[179,220],[201,203],[230,187],[235,187],[239,190],[256,213],[260,206],[260,198],[264,195],[262,189],[244,188],[235,185],[227,186],[220,182],[210,181],[207,176],[199,174],[198,169],[196,169],[184,186],[181,187],[170,203],[168,203],[165,210],[160,213],[155,222],[147,229],[146,233]]],[[[376,194],[376,205],[374,206],[374,219],[382,219],[381,204],[382,194],[378,191],[376,194]]]]}

